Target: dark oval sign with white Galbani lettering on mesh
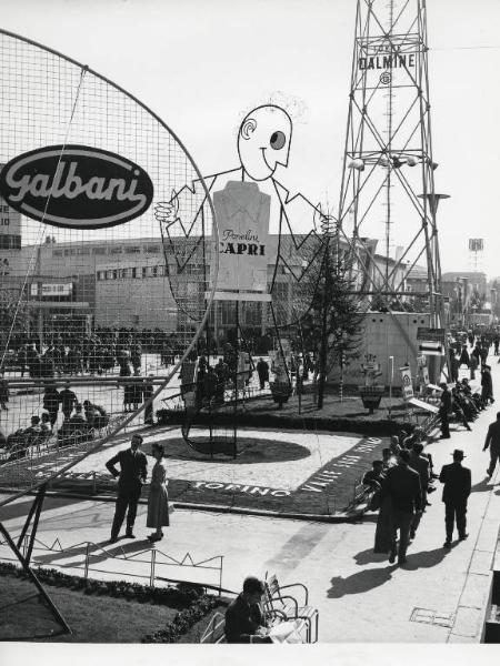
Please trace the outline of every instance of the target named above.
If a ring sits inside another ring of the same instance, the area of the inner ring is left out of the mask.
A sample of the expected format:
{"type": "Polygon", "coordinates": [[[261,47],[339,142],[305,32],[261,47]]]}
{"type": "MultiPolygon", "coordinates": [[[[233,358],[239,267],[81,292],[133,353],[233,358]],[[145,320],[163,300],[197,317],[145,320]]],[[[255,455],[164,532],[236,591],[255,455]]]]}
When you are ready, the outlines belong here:
{"type": "Polygon", "coordinates": [[[148,210],[153,184],[130,160],[87,145],[49,145],[18,155],[0,172],[0,194],[46,224],[101,229],[148,210]]]}

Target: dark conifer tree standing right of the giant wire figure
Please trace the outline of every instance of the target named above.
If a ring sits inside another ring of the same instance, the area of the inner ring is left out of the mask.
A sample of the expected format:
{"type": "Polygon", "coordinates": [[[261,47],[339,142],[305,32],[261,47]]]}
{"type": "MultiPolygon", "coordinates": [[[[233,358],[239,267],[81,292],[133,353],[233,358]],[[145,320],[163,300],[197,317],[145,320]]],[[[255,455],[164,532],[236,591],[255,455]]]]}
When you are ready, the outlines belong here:
{"type": "Polygon", "coordinates": [[[301,322],[306,349],[319,353],[319,410],[323,406],[328,374],[334,367],[342,371],[350,359],[359,355],[363,321],[352,264],[346,260],[337,236],[327,232],[326,243],[312,305],[301,322]]]}

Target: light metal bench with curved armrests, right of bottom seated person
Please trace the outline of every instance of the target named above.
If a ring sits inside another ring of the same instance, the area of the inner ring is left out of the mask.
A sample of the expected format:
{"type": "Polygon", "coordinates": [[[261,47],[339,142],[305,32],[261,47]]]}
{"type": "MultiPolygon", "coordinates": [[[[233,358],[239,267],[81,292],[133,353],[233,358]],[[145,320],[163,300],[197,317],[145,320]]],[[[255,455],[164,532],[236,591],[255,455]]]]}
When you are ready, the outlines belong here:
{"type": "Polygon", "coordinates": [[[302,583],[280,585],[276,574],[266,576],[266,592],[263,597],[264,615],[279,613],[283,619],[304,619],[307,622],[307,642],[318,642],[319,612],[309,605],[309,591],[302,583]],[[303,595],[303,604],[300,605],[296,596],[288,594],[292,588],[300,588],[303,595]],[[283,591],[284,594],[283,594],[283,591]]]}

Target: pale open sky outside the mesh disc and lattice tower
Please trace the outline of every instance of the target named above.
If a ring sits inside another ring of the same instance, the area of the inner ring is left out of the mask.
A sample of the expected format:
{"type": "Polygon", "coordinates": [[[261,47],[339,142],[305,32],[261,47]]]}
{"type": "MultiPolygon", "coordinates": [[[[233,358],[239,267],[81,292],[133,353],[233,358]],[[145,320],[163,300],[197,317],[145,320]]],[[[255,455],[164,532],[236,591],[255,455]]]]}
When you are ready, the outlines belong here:
{"type": "MultiPolygon", "coordinates": [[[[468,240],[483,238],[479,268],[500,275],[500,2],[427,4],[436,189],[450,195],[438,215],[442,270],[470,270],[468,240]]],[[[334,206],[354,12],[354,0],[2,0],[1,27],[136,95],[203,174],[238,165],[238,127],[250,109],[283,104],[294,127],[281,180],[334,206]]]]}

